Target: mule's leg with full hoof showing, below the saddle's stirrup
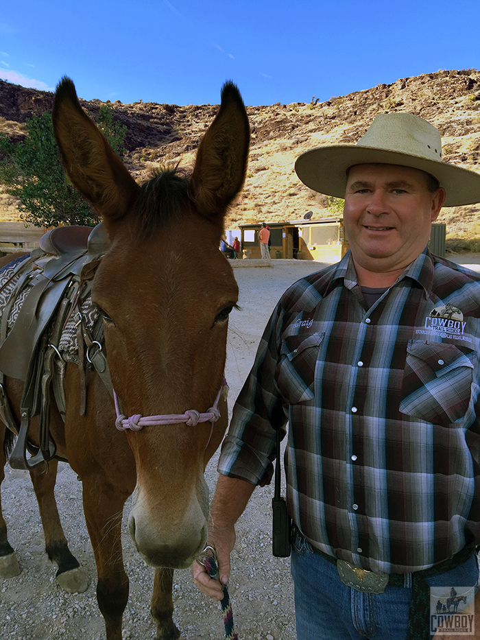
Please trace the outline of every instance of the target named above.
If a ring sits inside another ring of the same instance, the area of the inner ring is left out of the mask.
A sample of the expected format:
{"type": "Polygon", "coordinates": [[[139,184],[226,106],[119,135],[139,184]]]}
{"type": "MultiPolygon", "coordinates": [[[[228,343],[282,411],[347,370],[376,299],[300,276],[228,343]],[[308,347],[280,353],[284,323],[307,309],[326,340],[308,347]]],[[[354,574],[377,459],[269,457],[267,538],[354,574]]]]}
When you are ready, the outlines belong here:
{"type": "Polygon", "coordinates": [[[45,551],[49,560],[58,566],[56,578],[62,589],[68,593],[83,593],[88,589],[89,580],[70,552],[58,515],[54,494],[57,467],[58,462],[51,460],[46,467],[42,465],[30,471],[42,519],[45,551]]]}

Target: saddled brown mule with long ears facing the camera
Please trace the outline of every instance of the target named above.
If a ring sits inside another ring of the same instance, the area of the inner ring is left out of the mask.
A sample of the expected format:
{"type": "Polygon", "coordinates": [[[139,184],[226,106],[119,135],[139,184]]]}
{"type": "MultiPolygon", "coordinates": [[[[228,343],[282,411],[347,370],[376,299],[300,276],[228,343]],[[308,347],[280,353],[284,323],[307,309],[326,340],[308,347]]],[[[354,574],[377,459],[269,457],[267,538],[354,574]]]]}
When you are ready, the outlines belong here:
{"type": "MultiPolygon", "coordinates": [[[[248,159],[250,128],[239,91],[231,83],[224,86],[219,113],[200,143],[189,179],[163,171],[139,187],[85,115],[68,78],[56,91],[53,127],[67,176],[101,213],[110,239],[95,273],[92,300],[104,316],[104,350],[123,413],[206,412],[224,379],[228,314],[238,296],[219,243],[248,159]]],[[[128,600],[121,516],[132,493],[130,534],[144,560],[158,567],[152,595],[157,638],[176,639],[173,569],[189,567],[206,541],[204,468],[226,429],[226,400],[219,403],[216,422],[119,431],[114,403],[95,371],[86,374],[86,412],[79,415],[78,371],[67,364],[65,420],[53,407],[50,427],[57,455],[82,480],[107,640],[121,640],[128,600]]],[[[5,388],[19,420],[22,383],[8,378],[5,388]]],[[[34,441],[35,425],[32,420],[34,441]]],[[[0,458],[0,464],[4,461],[0,458]]],[[[3,464],[1,469],[3,479],[3,464]]],[[[31,475],[47,552],[59,576],[75,571],[78,563],[53,498],[56,462],[49,462],[47,473],[40,466],[31,475]]],[[[0,556],[14,558],[1,512],[0,556]]]]}

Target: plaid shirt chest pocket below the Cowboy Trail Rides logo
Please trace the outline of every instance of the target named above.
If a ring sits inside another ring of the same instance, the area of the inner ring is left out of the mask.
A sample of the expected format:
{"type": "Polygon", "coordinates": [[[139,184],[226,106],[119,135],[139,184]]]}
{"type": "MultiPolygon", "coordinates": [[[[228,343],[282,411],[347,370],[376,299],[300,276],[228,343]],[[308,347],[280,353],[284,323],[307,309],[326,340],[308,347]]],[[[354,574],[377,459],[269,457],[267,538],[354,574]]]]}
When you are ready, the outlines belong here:
{"type": "Polygon", "coordinates": [[[400,411],[442,426],[463,418],[476,364],[475,351],[464,353],[453,344],[410,340],[400,411]]]}

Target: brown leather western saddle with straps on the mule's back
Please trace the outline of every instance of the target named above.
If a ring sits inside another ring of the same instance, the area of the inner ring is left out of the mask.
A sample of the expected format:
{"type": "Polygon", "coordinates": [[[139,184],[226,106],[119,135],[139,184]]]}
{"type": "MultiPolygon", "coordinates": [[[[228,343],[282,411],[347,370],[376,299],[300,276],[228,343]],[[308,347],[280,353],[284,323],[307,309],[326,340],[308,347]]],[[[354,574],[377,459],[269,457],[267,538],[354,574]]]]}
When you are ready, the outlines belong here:
{"type": "Polygon", "coordinates": [[[52,458],[62,460],[55,455],[49,416],[52,389],[60,415],[65,416],[66,363],[58,345],[71,316],[77,317],[80,415],[84,415],[86,408],[85,366],[95,367],[112,393],[106,357],[101,349],[101,318],[89,328],[81,313],[82,304],[90,297],[95,270],[109,248],[104,226],[100,223],[93,229],[56,227],[40,238],[39,245],[29,256],[18,259],[12,275],[0,287],[1,291],[14,283],[8,302],[0,309],[0,418],[18,436],[10,455],[13,469],[34,469],[52,458]],[[8,318],[21,294],[25,300],[8,333],[8,318]],[[20,426],[3,388],[5,377],[25,383],[20,426]],[[38,447],[28,440],[30,420],[34,416],[38,416],[38,447]]]}

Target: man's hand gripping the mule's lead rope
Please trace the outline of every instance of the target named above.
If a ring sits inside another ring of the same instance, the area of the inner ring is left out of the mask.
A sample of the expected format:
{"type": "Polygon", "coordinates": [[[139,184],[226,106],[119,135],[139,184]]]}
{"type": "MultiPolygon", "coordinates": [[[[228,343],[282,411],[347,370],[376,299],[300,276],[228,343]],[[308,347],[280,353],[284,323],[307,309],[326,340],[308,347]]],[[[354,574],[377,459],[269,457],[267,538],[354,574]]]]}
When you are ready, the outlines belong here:
{"type": "Polygon", "coordinates": [[[221,589],[222,584],[228,584],[230,578],[230,553],[235,546],[235,528],[233,525],[219,528],[215,523],[210,523],[210,535],[208,536],[208,545],[215,549],[217,553],[217,567],[219,580],[213,580],[203,565],[193,562],[192,573],[193,582],[198,589],[213,597],[214,600],[223,600],[224,592],[221,589]]]}

